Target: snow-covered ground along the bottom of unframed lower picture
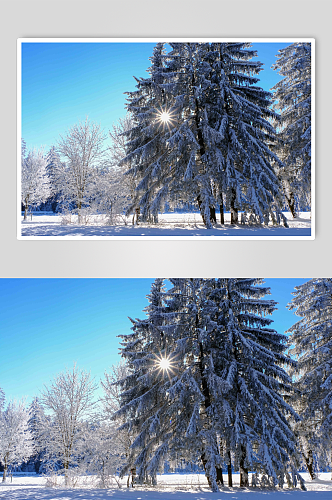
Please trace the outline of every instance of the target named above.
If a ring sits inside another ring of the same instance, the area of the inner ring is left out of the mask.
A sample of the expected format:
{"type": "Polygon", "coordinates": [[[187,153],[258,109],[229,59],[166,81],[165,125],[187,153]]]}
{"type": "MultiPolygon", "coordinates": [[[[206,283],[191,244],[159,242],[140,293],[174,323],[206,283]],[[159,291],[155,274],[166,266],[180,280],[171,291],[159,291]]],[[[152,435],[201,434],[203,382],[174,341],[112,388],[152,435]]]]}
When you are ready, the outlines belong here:
{"type": "MultiPolygon", "coordinates": [[[[221,488],[212,493],[207,488],[203,474],[164,474],[158,477],[158,486],[153,490],[144,488],[111,488],[108,490],[85,486],[84,488],[49,488],[43,477],[13,477],[12,483],[0,483],[0,499],[4,500],[331,500],[331,473],[322,473],[310,481],[302,474],[308,491],[300,489],[259,490],[239,488],[239,474],[233,475],[234,487],[221,488]]],[[[9,479],[10,481],[10,479],[9,479]]],[[[224,481],[227,481],[226,475],[224,481]]]]}

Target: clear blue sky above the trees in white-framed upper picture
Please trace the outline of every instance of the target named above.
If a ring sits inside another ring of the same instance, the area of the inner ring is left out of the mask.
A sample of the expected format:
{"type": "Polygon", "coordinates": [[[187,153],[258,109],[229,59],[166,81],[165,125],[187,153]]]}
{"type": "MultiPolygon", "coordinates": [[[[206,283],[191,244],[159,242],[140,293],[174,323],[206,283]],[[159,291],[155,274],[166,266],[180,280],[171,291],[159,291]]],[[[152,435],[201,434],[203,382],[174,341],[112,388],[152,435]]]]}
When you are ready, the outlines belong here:
{"type": "MultiPolygon", "coordinates": [[[[100,123],[106,131],[123,117],[124,92],[146,77],[154,43],[22,44],[22,137],[28,148],[48,150],[79,120],[100,123]]],[[[280,76],[270,69],[288,43],[254,43],[264,63],[261,85],[269,90],[280,76]]]]}

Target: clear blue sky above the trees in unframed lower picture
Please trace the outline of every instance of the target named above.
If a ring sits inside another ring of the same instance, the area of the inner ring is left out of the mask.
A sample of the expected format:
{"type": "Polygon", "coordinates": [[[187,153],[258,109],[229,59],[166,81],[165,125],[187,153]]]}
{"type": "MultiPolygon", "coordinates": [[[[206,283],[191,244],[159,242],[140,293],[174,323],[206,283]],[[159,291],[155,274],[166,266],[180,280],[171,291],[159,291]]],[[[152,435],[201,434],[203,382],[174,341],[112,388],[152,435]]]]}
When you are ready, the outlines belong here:
{"type": "MultiPolygon", "coordinates": [[[[97,381],[120,360],[117,335],[144,318],[153,279],[0,279],[0,387],[6,397],[38,395],[43,384],[77,362],[97,381]]],[[[306,279],[267,279],[283,333],[297,317],[286,309],[306,279]]]]}

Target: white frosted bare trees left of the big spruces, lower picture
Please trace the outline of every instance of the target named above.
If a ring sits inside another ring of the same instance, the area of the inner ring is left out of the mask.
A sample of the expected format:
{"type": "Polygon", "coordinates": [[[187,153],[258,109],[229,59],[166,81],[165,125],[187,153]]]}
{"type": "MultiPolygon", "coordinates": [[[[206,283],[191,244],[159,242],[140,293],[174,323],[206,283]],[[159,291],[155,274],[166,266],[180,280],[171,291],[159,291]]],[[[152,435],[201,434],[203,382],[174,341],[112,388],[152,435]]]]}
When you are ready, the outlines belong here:
{"type": "Polygon", "coordinates": [[[120,363],[105,374],[105,397],[100,400],[95,396],[95,381],[75,365],[44,386],[29,407],[24,401],[6,404],[0,389],[2,481],[23,464],[23,468],[46,474],[52,486],[60,476],[66,486],[75,486],[87,474],[95,476],[100,487],[116,484],[127,443],[109,415],[118,405],[111,384],[123,370],[120,363]]]}

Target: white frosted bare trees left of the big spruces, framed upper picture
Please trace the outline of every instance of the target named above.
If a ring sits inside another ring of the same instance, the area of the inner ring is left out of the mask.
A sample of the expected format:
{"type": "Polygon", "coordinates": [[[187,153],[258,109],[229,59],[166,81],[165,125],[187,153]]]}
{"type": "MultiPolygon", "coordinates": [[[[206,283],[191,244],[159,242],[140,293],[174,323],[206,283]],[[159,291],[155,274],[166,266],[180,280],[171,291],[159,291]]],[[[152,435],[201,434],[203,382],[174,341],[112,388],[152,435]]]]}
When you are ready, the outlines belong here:
{"type": "Polygon", "coordinates": [[[42,150],[27,151],[22,140],[21,202],[24,219],[33,208],[77,214],[86,223],[91,214],[104,214],[106,223],[121,219],[130,197],[131,180],[123,175],[119,158],[124,157],[121,133],[129,127],[125,117],[109,131],[111,148],[105,146],[106,134],[96,123],[75,124],[57,146],[45,155],[42,150]]]}

